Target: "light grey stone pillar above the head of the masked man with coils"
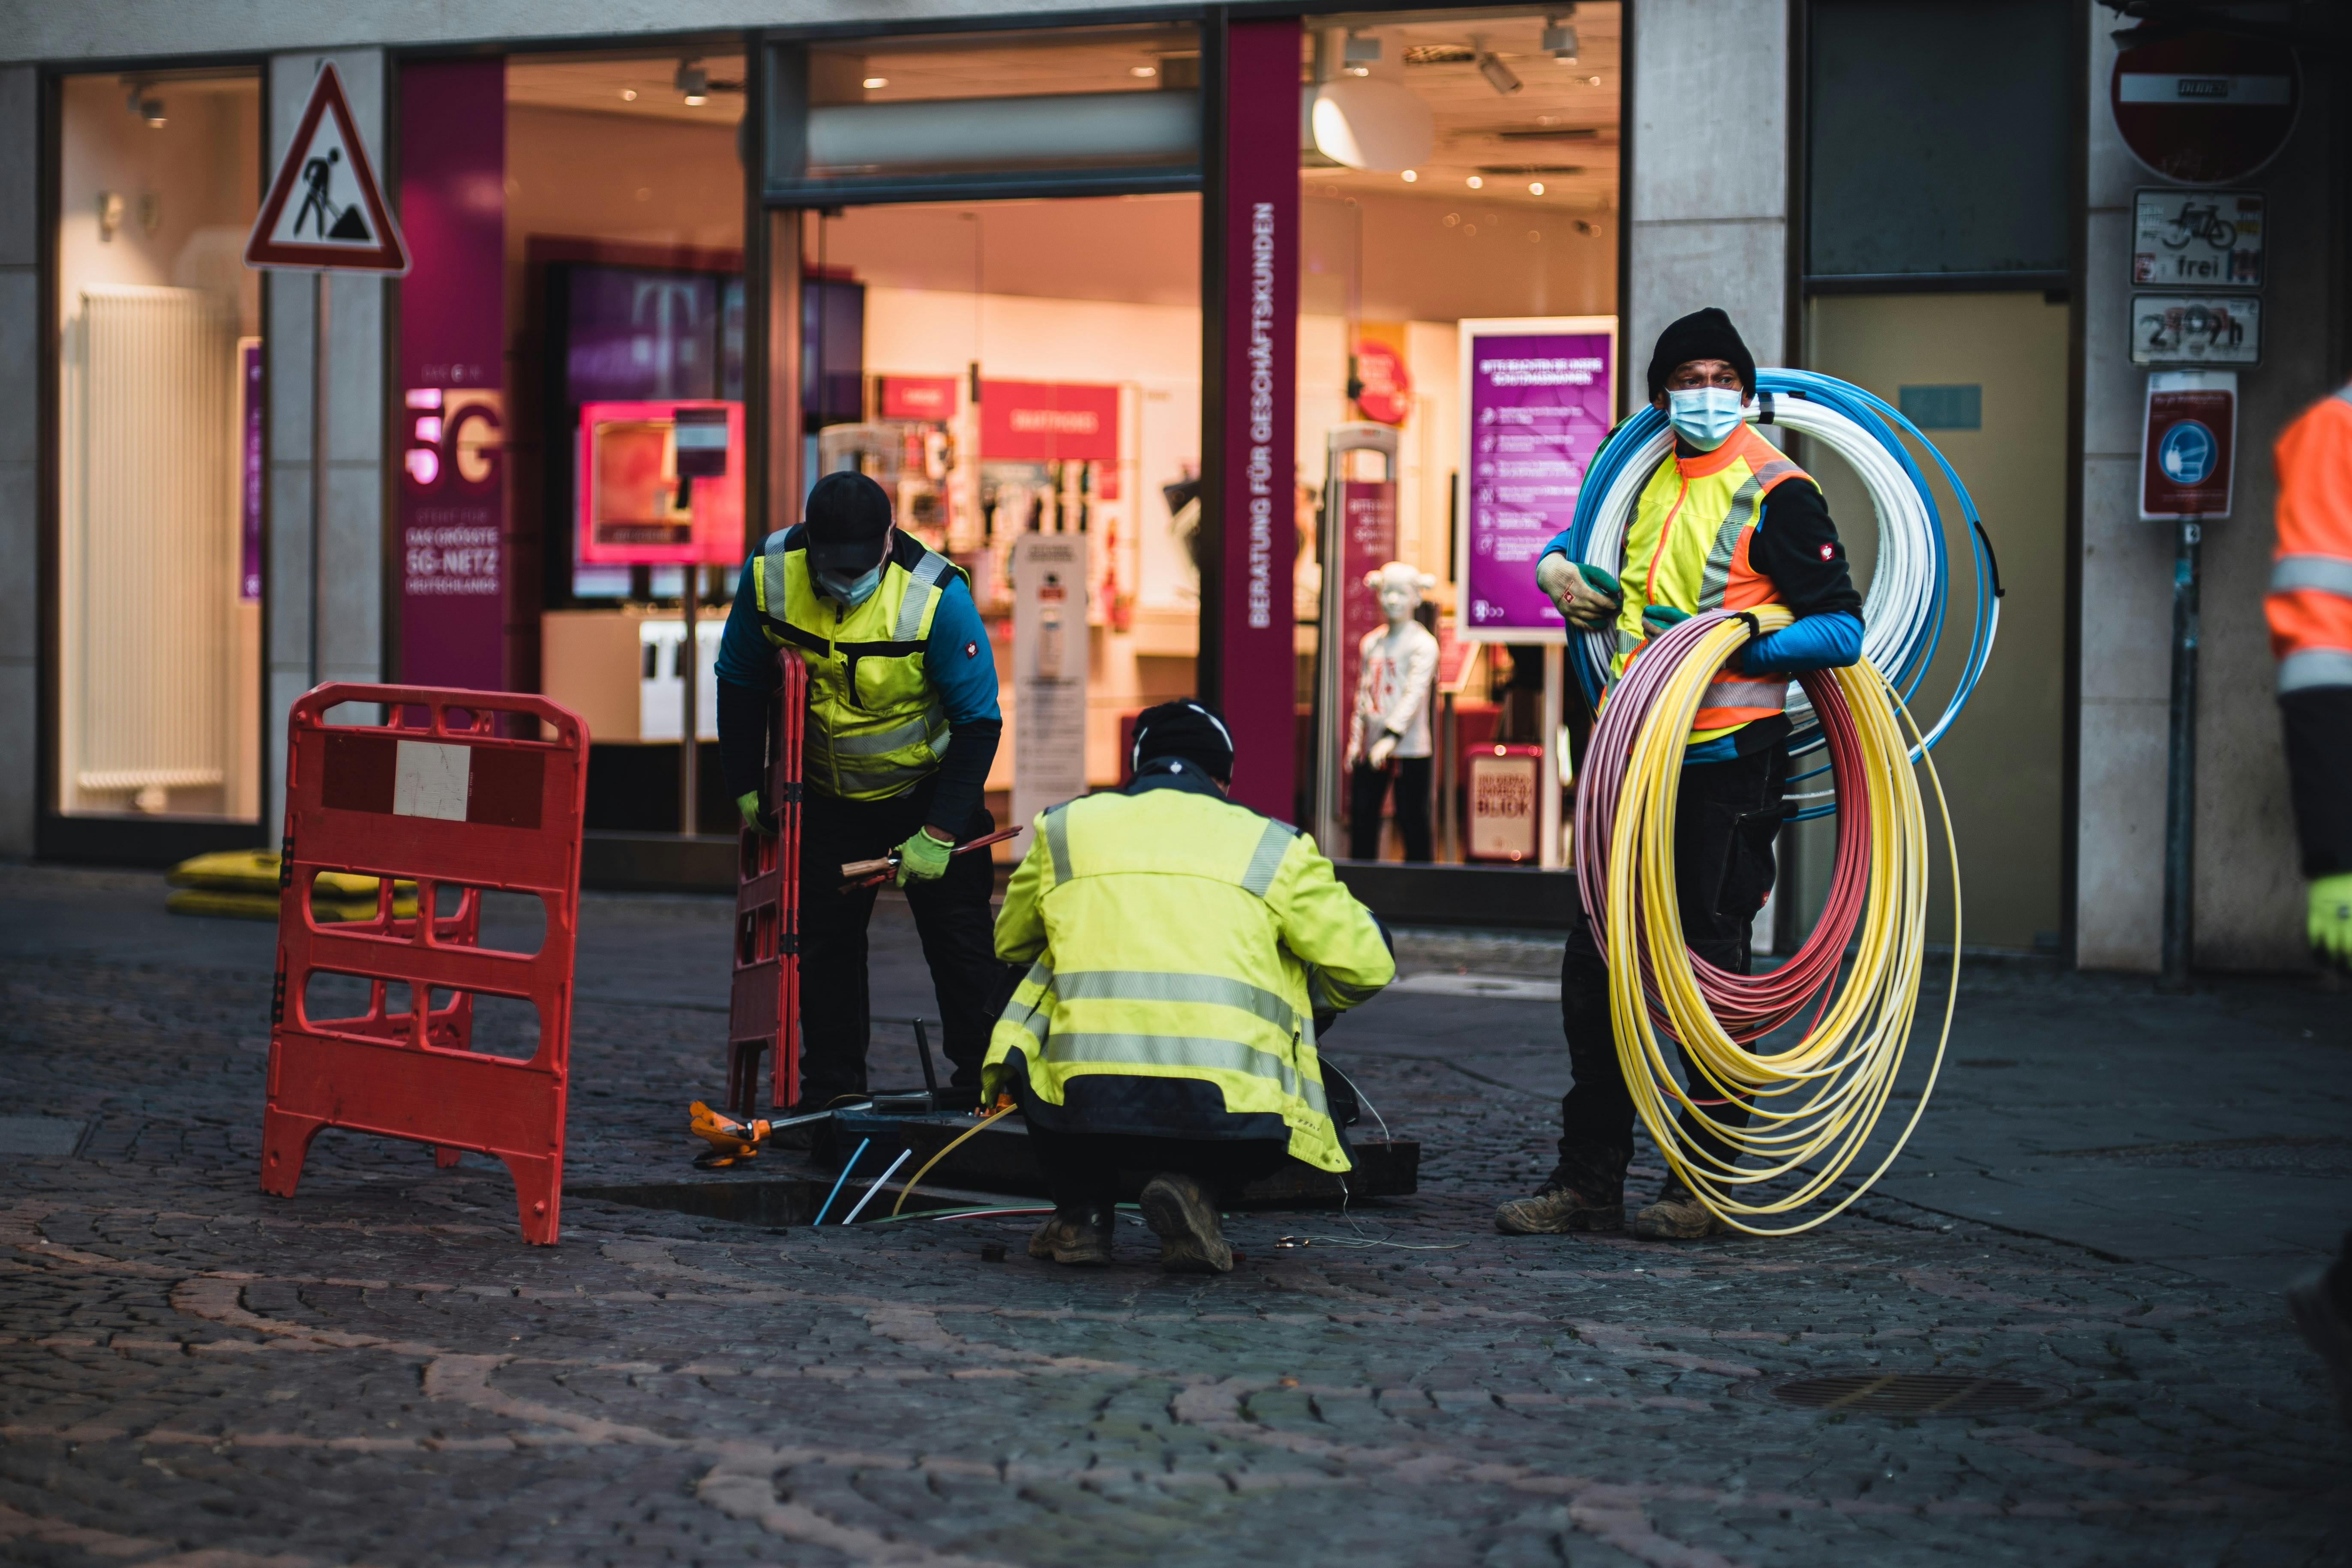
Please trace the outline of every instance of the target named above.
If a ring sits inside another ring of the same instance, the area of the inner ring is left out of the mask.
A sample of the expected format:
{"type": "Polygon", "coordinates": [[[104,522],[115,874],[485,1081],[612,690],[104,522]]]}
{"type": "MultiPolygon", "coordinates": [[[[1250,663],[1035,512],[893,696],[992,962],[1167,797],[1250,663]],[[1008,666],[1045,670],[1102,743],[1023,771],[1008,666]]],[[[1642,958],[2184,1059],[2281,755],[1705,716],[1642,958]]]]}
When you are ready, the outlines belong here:
{"type": "Polygon", "coordinates": [[[1788,0],[1642,0],[1625,21],[1625,360],[1639,376],[1670,320],[1722,306],[1759,364],[1785,364],[1788,0]]]}

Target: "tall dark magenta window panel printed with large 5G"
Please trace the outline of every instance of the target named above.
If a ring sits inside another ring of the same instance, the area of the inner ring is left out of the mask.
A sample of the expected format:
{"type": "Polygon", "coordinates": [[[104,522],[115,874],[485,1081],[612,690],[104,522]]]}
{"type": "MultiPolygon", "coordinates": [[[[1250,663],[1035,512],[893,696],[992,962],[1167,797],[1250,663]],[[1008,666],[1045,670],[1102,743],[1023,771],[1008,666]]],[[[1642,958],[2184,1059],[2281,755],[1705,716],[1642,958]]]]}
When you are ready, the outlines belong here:
{"type": "Polygon", "coordinates": [[[400,679],[503,691],[506,66],[400,73],[400,679]]]}

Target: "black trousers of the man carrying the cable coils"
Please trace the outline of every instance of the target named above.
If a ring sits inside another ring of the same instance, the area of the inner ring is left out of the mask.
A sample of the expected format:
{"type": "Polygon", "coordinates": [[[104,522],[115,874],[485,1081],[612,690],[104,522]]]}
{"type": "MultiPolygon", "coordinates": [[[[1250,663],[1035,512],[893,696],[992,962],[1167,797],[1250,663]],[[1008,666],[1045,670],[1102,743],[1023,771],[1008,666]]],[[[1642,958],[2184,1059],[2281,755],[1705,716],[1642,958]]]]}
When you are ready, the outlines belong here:
{"type": "MultiPolygon", "coordinates": [[[[1748,940],[1757,910],[1771,893],[1785,788],[1788,750],[1780,745],[1682,769],[1675,804],[1675,903],[1691,952],[1717,969],[1750,969],[1748,940]]],[[[1592,1204],[1613,1204],[1625,1192],[1625,1166],[1632,1164],[1632,1093],[1609,1027],[1609,966],[1581,900],[1571,922],[1559,959],[1559,1027],[1569,1037],[1576,1084],[1559,1100],[1559,1166],[1552,1182],[1573,1187],[1592,1204]]],[[[1693,1100],[1715,1100],[1703,1107],[1712,1121],[1748,1126],[1748,1105],[1722,1098],[1691,1067],[1689,1056],[1682,1072],[1693,1100]]],[[[1710,1138],[1689,1110],[1682,1112],[1682,1128],[1719,1159],[1731,1159],[1731,1145],[1710,1138]]]]}

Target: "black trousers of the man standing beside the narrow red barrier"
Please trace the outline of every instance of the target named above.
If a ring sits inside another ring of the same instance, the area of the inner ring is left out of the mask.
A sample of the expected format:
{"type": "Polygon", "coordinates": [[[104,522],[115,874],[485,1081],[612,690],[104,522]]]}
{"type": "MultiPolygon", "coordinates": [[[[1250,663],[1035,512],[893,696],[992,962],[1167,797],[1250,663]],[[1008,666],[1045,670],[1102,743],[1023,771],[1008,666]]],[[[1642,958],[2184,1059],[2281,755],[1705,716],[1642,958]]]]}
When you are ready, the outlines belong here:
{"type": "MultiPolygon", "coordinates": [[[[866,1041],[873,1006],[866,994],[866,922],[873,889],[842,889],[842,863],[873,860],[906,844],[931,809],[931,780],[894,799],[837,799],[809,790],[800,806],[800,1105],[821,1110],[840,1095],[866,1093],[866,1041]]],[[[981,809],[955,827],[957,842],[995,827],[981,809]]],[[[953,1084],[981,1088],[988,1030],[1011,994],[1014,971],[997,961],[995,914],[988,893],[995,877],[988,851],[948,860],[936,882],[910,882],[906,903],[915,912],[922,957],[931,966],[938,1004],[941,1048],[953,1084]]]]}

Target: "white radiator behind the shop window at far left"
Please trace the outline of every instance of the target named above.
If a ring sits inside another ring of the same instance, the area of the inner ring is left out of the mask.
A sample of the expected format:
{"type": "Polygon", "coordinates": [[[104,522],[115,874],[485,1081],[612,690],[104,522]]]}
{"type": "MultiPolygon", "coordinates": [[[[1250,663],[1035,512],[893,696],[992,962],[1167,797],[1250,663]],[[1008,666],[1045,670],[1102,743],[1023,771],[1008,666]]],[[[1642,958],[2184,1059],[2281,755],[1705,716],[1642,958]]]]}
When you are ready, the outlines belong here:
{"type": "Polygon", "coordinates": [[[64,331],[64,806],[155,809],[228,776],[235,320],[200,289],[92,287],[64,331]]]}

